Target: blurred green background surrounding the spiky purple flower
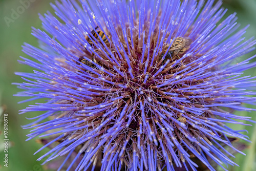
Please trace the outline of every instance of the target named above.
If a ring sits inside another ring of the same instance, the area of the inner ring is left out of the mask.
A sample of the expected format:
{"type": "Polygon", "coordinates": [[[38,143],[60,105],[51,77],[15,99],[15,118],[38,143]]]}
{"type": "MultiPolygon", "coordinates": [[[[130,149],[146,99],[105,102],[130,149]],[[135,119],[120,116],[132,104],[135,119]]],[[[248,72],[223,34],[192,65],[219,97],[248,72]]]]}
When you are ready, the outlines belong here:
{"type": "MultiPolygon", "coordinates": [[[[25,1],[25,0],[22,0],[25,1]]],[[[18,115],[18,110],[25,109],[28,103],[17,104],[18,101],[22,101],[26,98],[14,97],[20,90],[12,85],[12,82],[23,82],[23,80],[14,75],[14,72],[32,72],[32,68],[24,65],[20,65],[17,62],[19,56],[26,55],[22,52],[23,42],[28,42],[34,46],[37,46],[37,40],[31,35],[31,27],[41,28],[41,22],[38,18],[38,13],[44,14],[46,11],[53,12],[50,7],[50,3],[53,0],[34,0],[30,3],[28,9],[25,9],[17,19],[13,20],[8,25],[5,22],[4,17],[11,18],[12,9],[16,11],[22,4],[19,0],[0,0],[0,105],[1,110],[5,110],[8,113],[9,119],[9,130],[8,136],[10,141],[8,156],[9,156],[9,167],[6,168],[3,163],[3,134],[0,135],[0,169],[1,170],[14,170],[14,171],[39,171],[48,170],[45,166],[40,165],[40,161],[36,161],[45,151],[33,155],[38,148],[41,147],[40,144],[35,142],[35,139],[30,141],[26,140],[26,134],[29,130],[23,130],[20,125],[25,125],[30,121],[25,117],[32,117],[38,115],[36,112],[26,113],[23,115],[18,115]]],[[[246,38],[256,35],[256,0],[225,0],[223,1],[223,7],[228,9],[225,16],[237,12],[238,23],[241,24],[241,28],[250,24],[249,29],[247,29],[246,38]]],[[[244,56],[243,58],[248,58],[255,54],[256,51],[244,56]]],[[[242,59],[241,59],[242,60],[242,59]]],[[[256,76],[256,70],[251,69],[246,71],[245,75],[256,76]]],[[[32,104],[32,102],[30,102],[32,104]]],[[[250,116],[253,120],[256,120],[255,112],[237,112],[237,115],[250,116]]],[[[1,128],[3,129],[3,121],[0,121],[1,128]]],[[[247,156],[241,154],[236,155],[236,159],[233,159],[240,167],[229,167],[228,170],[256,170],[256,157],[255,157],[255,147],[256,147],[256,127],[253,126],[234,126],[235,129],[246,129],[248,130],[251,144],[248,144],[247,149],[243,152],[247,156]]],[[[3,131],[3,130],[2,130],[3,131]]],[[[222,169],[219,169],[222,170],[222,169]]]]}

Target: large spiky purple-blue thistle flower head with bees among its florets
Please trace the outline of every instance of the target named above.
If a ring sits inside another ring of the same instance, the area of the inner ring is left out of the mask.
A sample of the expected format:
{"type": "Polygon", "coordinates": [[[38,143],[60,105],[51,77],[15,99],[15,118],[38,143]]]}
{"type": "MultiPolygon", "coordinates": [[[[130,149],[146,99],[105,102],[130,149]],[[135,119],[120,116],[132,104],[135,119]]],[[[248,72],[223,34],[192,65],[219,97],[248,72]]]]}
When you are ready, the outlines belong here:
{"type": "Polygon", "coordinates": [[[226,10],[210,0],[78,2],[40,15],[40,48],[23,50],[37,62],[19,61],[35,70],[16,73],[26,81],[17,96],[47,98],[20,111],[47,111],[25,125],[28,139],[49,136],[38,160],[65,157],[58,170],[71,156],[67,170],[237,165],[222,145],[242,153],[229,139],[249,141],[226,123],[250,121],[232,111],[254,110],[242,103],[255,104],[255,77],[242,72],[255,55],[237,58],[256,41],[242,38],[236,14],[220,22],[226,10]]]}

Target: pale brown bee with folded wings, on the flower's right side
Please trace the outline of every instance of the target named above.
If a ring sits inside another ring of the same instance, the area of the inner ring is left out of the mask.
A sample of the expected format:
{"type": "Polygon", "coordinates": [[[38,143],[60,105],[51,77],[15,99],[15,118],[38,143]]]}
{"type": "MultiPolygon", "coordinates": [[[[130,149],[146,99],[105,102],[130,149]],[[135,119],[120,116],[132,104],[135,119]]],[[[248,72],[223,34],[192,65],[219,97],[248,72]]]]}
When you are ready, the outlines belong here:
{"type": "MultiPolygon", "coordinates": [[[[180,58],[178,55],[185,53],[189,49],[191,42],[192,42],[192,40],[189,38],[177,37],[174,40],[172,47],[170,47],[168,53],[166,54],[164,61],[166,61],[167,59],[174,58],[174,57],[180,58]]],[[[167,49],[168,49],[168,45],[165,46],[165,51],[160,55],[161,58],[163,57],[163,55],[165,54],[167,49]]]]}

